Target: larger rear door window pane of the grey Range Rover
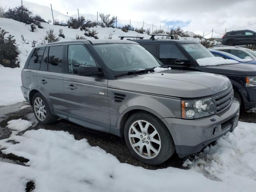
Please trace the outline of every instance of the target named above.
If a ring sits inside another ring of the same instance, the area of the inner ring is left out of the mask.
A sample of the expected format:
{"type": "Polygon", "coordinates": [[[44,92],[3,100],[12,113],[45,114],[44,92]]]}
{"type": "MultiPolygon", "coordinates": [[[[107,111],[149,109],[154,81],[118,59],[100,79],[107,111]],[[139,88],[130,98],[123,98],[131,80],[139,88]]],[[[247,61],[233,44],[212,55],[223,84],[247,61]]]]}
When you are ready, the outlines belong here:
{"type": "Polygon", "coordinates": [[[62,72],[63,45],[52,46],[48,55],[48,71],[62,72]]]}

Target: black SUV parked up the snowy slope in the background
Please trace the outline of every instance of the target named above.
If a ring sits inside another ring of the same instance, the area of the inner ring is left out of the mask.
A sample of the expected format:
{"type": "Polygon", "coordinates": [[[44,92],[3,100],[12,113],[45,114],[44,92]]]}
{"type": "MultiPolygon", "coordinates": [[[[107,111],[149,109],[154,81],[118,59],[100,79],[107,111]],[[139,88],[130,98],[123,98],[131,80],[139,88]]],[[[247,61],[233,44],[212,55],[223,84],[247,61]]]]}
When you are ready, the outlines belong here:
{"type": "Polygon", "coordinates": [[[226,32],[222,36],[222,44],[229,46],[256,44],[256,32],[251,30],[226,32]]]}

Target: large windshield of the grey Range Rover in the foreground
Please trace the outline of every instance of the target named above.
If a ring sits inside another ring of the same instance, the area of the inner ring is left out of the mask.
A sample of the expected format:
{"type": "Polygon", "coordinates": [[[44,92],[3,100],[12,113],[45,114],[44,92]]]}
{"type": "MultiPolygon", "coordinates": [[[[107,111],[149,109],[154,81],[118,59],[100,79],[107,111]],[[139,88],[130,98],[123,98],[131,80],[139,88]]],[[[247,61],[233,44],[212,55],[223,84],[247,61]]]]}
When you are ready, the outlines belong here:
{"type": "Polygon", "coordinates": [[[163,65],[137,44],[99,44],[94,45],[94,49],[114,75],[163,65]]]}

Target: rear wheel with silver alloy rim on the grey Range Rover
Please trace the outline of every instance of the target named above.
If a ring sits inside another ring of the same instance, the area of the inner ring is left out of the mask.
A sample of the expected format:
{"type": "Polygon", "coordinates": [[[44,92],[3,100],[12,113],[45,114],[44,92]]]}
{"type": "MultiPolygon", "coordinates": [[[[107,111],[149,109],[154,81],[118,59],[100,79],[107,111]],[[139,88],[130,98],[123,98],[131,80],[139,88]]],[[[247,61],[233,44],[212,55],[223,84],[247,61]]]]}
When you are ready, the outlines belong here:
{"type": "Polygon", "coordinates": [[[39,92],[33,96],[32,107],[38,122],[51,124],[58,120],[58,117],[51,113],[46,99],[39,92]]]}

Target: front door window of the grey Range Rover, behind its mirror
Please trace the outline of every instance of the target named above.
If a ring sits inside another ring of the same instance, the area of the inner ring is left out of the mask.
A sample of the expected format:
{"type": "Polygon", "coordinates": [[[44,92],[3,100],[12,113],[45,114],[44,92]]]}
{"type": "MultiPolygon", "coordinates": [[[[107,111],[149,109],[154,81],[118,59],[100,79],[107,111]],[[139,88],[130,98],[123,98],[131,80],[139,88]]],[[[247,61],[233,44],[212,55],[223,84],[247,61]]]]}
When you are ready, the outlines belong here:
{"type": "Polygon", "coordinates": [[[96,66],[96,63],[83,45],[69,45],[68,72],[78,74],[78,67],[80,65],[96,66]]]}

